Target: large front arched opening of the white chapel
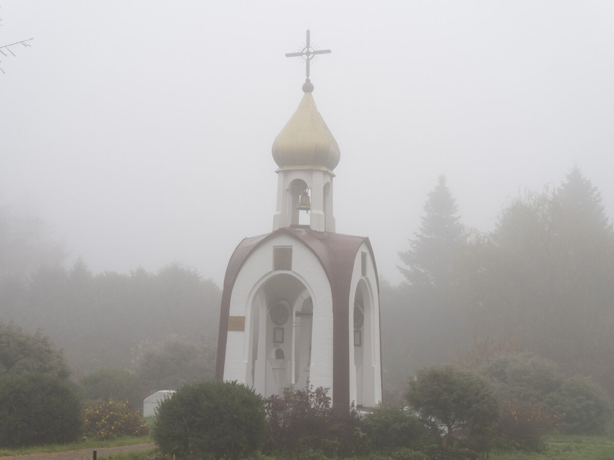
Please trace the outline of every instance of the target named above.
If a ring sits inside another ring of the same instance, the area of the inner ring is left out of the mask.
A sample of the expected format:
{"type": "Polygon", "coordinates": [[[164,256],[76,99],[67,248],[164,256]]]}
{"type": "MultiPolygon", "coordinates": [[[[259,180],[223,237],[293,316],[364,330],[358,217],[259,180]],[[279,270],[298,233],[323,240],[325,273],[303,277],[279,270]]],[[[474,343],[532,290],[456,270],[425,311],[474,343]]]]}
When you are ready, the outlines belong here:
{"type": "Polygon", "coordinates": [[[281,395],[284,388],[308,380],[310,311],[307,286],[291,274],[270,277],[254,294],[247,356],[254,388],[264,397],[281,395]]]}

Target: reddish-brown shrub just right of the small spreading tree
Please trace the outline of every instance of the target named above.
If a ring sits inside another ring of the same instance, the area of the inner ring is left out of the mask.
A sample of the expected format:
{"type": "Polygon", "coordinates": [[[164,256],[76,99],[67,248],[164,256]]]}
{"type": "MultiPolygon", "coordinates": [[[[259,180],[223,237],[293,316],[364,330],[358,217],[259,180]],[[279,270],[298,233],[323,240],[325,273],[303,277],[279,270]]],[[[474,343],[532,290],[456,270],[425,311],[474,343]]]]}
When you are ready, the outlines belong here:
{"type": "Polygon", "coordinates": [[[535,399],[502,402],[497,434],[502,447],[520,450],[542,450],[542,435],[554,429],[561,414],[535,399]]]}

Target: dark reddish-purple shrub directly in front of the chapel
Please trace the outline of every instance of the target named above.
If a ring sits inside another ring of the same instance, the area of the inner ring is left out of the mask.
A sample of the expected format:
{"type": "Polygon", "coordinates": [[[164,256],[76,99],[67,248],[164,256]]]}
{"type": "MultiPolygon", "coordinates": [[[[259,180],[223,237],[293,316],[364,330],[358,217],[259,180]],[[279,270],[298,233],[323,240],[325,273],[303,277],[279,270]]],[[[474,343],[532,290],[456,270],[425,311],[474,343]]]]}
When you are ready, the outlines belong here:
{"type": "Polygon", "coordinates": [[[344,457],[366,448],[356,407],[331,407],[328,388],[286,388],[283,397],[266,399],[265,410],[270,428],[265,444],[268,453],[344,457]]]}

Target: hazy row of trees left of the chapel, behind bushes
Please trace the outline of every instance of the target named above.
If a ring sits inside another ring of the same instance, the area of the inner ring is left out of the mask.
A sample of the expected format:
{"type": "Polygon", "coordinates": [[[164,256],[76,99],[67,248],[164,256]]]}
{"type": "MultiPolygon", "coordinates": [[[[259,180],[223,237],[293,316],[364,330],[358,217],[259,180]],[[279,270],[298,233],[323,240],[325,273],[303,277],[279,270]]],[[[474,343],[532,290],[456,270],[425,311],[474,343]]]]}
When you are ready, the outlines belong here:
{"type": "Polygon", "coordinates": [[[0,318],[44,327],[80,378],[103,367],[133,369],[146,341],[217,343],[220,297],[212,280],[179,264],[157,274],[93,274],[77,259],[69,269],[43,266],[29,279],[0,277],[0,318]]]}

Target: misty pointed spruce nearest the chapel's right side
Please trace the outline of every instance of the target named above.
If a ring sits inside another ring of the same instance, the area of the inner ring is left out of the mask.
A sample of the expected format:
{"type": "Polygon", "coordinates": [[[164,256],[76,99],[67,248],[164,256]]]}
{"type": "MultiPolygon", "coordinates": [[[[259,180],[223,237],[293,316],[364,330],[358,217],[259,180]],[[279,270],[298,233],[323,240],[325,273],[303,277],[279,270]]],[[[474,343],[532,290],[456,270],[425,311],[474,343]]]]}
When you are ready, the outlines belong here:
{"type": "Polygon", "coordinates": [[[383,346],[394,348],[392,367],[405,372],[449,361],[464,340],[465,320],[452,290],[453,261],[465,239],[457,212],[441,175],[424,205],[419,232],[410,239],[410,248],[398,253],[406,264],[399,269],[408,283],[398,291],[402,296],[400,312],[382,307],[383,324],[395,323],[383,346]],[[394,337],[403,339],[392,343],[394,337]]]}

